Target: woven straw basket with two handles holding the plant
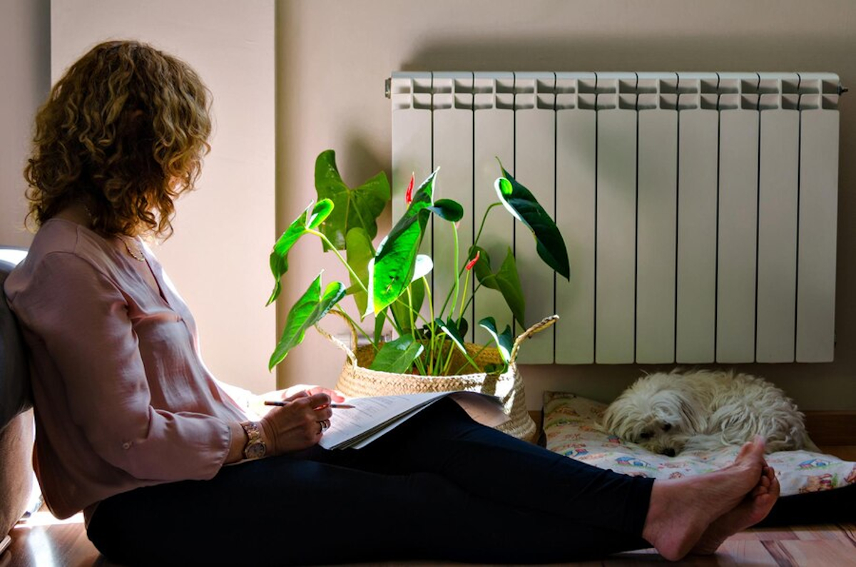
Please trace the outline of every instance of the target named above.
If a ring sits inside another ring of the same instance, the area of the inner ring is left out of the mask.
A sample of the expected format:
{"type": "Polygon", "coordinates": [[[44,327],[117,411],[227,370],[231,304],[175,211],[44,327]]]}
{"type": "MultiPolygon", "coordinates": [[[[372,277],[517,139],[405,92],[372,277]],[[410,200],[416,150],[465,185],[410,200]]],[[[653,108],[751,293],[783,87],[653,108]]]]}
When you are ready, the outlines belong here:
{"type": "MultiPolygon", "coordinates": [[[[331,312],[331,313],[336,313],[331,312]]],[[[546,319],[532,325],[514,340],[511,350],[511,361],[508,370],[502,374],[472,373],[459,374],[456,376],[420,376],[416,374],[398,374],[371,370],[369,366],[374,360],[374,349],[371,344],[357,345],[357,334],[354,327],[348,322],[351,330],[353,348],[349,348],[336,337],[318,328],[324,337],[342,349],[348,359],[342,367],[336,390],[341,391],[348,397],[366,396],[389,396],[394,394],[417,394],[429,391],[479,391],[485,394],[499,397],[502,400],[502,409],[509,419],[497,426],[496,429],[518,439],[534,441],[536,427],[535,422],[526,410],[526,394],[523,391],[523,380],[514,360],[517,352],[526,338],[534,333],[546,329],[559,319],[558,315],[551,315],[546,319]]],[[[500,364],[502,358],[496,348],[484,349],[481,345],[466,343],[467,354],[473,361],[484,368],[489,364],[500,364]],[[479,352],[480,351],[480,352],[479,352]]],[[[455,349],[452,355],[452,368],[462,367],[464,357],[460,351],[455,349]]],[[[469,365],[467,365],[469,367],[469,365]]]]}

